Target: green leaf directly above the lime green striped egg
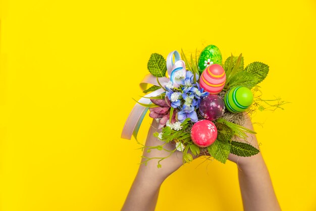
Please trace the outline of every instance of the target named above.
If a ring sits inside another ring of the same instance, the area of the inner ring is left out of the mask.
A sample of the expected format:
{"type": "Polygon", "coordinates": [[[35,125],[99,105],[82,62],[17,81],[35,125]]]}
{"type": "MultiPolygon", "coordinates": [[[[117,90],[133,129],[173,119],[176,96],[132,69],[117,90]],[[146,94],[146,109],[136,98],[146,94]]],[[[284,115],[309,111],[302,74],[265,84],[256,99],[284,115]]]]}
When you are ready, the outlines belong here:
{"type": "Polygon", "coordinates": [[[258,79],[251,73],[239,72],[229,80],[228,88],[233,86],[244,86],[251,89],[257,84],[257,81],[258,79]]]}

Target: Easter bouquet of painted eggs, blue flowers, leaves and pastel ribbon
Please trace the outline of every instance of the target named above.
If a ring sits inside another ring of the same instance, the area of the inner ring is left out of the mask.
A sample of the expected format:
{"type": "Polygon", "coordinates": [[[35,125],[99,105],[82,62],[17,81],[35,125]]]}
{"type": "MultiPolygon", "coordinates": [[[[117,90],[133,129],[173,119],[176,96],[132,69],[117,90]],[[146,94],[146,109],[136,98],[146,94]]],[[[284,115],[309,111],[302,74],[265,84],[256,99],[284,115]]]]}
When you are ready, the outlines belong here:
{"type": "MultiPolygon", "coordinates": [[[[130,113],[122,138],[137,137],[141,122],[149,110],[149,117],[159,123],[160,133],[153,135],[162,141],[159,146],[142,149],[164,150],[166,143],[174,143],[176,150],[183,152],[183,162],[191,162],[193,155],[208,154],[221,163],[226,163],[229,153],[252,156],[259,150],[247,143],[246,133],[255,133],[244,124],[243,112],[283,109],[287,103],[280,98],[264,100],[258,84],[269,72],[269,66],[253,62],[244,67],[242,54],[231,55],[223,63],[220,49],[206,46],[197,57],[187,59],[172,51],[167,61],[160,54],[152,54],[147,63],[150,74],[140,87],[146,94],[130,113]],[[166,76],[167,74],[167,76],[166,76]],[[147,84],[152,84],[146,89],[147,84]],[[237,141],[237,140],[245,141],[237,141]],[[190,150],[189,150],[190,149],[190,150]]],[[[168,156],[167,156],[168,157],[168,156]]],[[[159,158],[160,162],[167,157],[159,158]]],[[[146,158],[145,164],[151,160],[146,158]]]]}

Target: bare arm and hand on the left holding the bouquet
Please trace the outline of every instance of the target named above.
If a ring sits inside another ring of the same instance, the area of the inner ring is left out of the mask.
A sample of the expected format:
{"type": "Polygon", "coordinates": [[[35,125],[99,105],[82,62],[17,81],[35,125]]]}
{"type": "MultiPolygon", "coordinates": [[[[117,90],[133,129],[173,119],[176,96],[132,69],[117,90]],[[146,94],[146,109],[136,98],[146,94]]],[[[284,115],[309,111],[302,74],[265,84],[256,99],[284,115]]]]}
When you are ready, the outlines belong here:
{"type": "MultiPolygon", "coordinates": [[[[146,146],[162,145],[164,142],[155,138],[152,134],[154,132],[160,132],[155,129],[158,127],[158,123],[155,120],[152,121],[152,127],[150,127],[147,135],[146,146]]],[[[168,143],[164,146],[165,149],[173,150],[175,146],[168,143]]],[[[143,155],[146,157],[166,157],[170,152],[165,150],[153,149],[151,152],[144,150],[143,155]]],[[[141,162],[144,162],[142,159],[141,162]]],[[[154,210],[159,189],[164,180],[179,169],[182,163],[182,152],[175,151],[170,157],[161,162],[162,168],[157,168],[157,160],[153,159],[148,161],[147,165],[140,165],[136,178],[132,184],[132,187],[128,193],[128,196],[123,205],[122,211],[151,211],[154,210]]]]}

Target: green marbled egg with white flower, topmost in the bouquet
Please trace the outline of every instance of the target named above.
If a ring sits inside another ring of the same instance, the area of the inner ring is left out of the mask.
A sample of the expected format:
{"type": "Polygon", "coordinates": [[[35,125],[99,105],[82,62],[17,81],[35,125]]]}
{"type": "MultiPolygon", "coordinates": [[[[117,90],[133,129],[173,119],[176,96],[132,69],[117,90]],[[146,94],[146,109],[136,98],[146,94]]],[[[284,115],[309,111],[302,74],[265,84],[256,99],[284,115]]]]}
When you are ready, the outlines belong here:
{"type": "Polygon", "coordinates": [[[200,57],[198,59],[200,73],[205,68],[213,64],[222,65],[222,54],[217,46],[208,45],[201,51],[200,57]]]}

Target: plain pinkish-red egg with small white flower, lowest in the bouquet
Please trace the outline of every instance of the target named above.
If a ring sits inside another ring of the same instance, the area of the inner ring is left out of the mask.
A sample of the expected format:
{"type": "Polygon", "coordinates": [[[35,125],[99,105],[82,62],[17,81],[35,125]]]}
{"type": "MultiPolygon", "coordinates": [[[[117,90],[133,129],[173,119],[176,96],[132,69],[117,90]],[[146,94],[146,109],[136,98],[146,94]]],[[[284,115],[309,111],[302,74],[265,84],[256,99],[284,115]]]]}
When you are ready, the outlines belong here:
{"type": "Polygon", "coordinates": [[[215,142],[217,128],[209,120],[200,120],[192,126],[191,139],[199,147],[207,147],[215,142]]]}

